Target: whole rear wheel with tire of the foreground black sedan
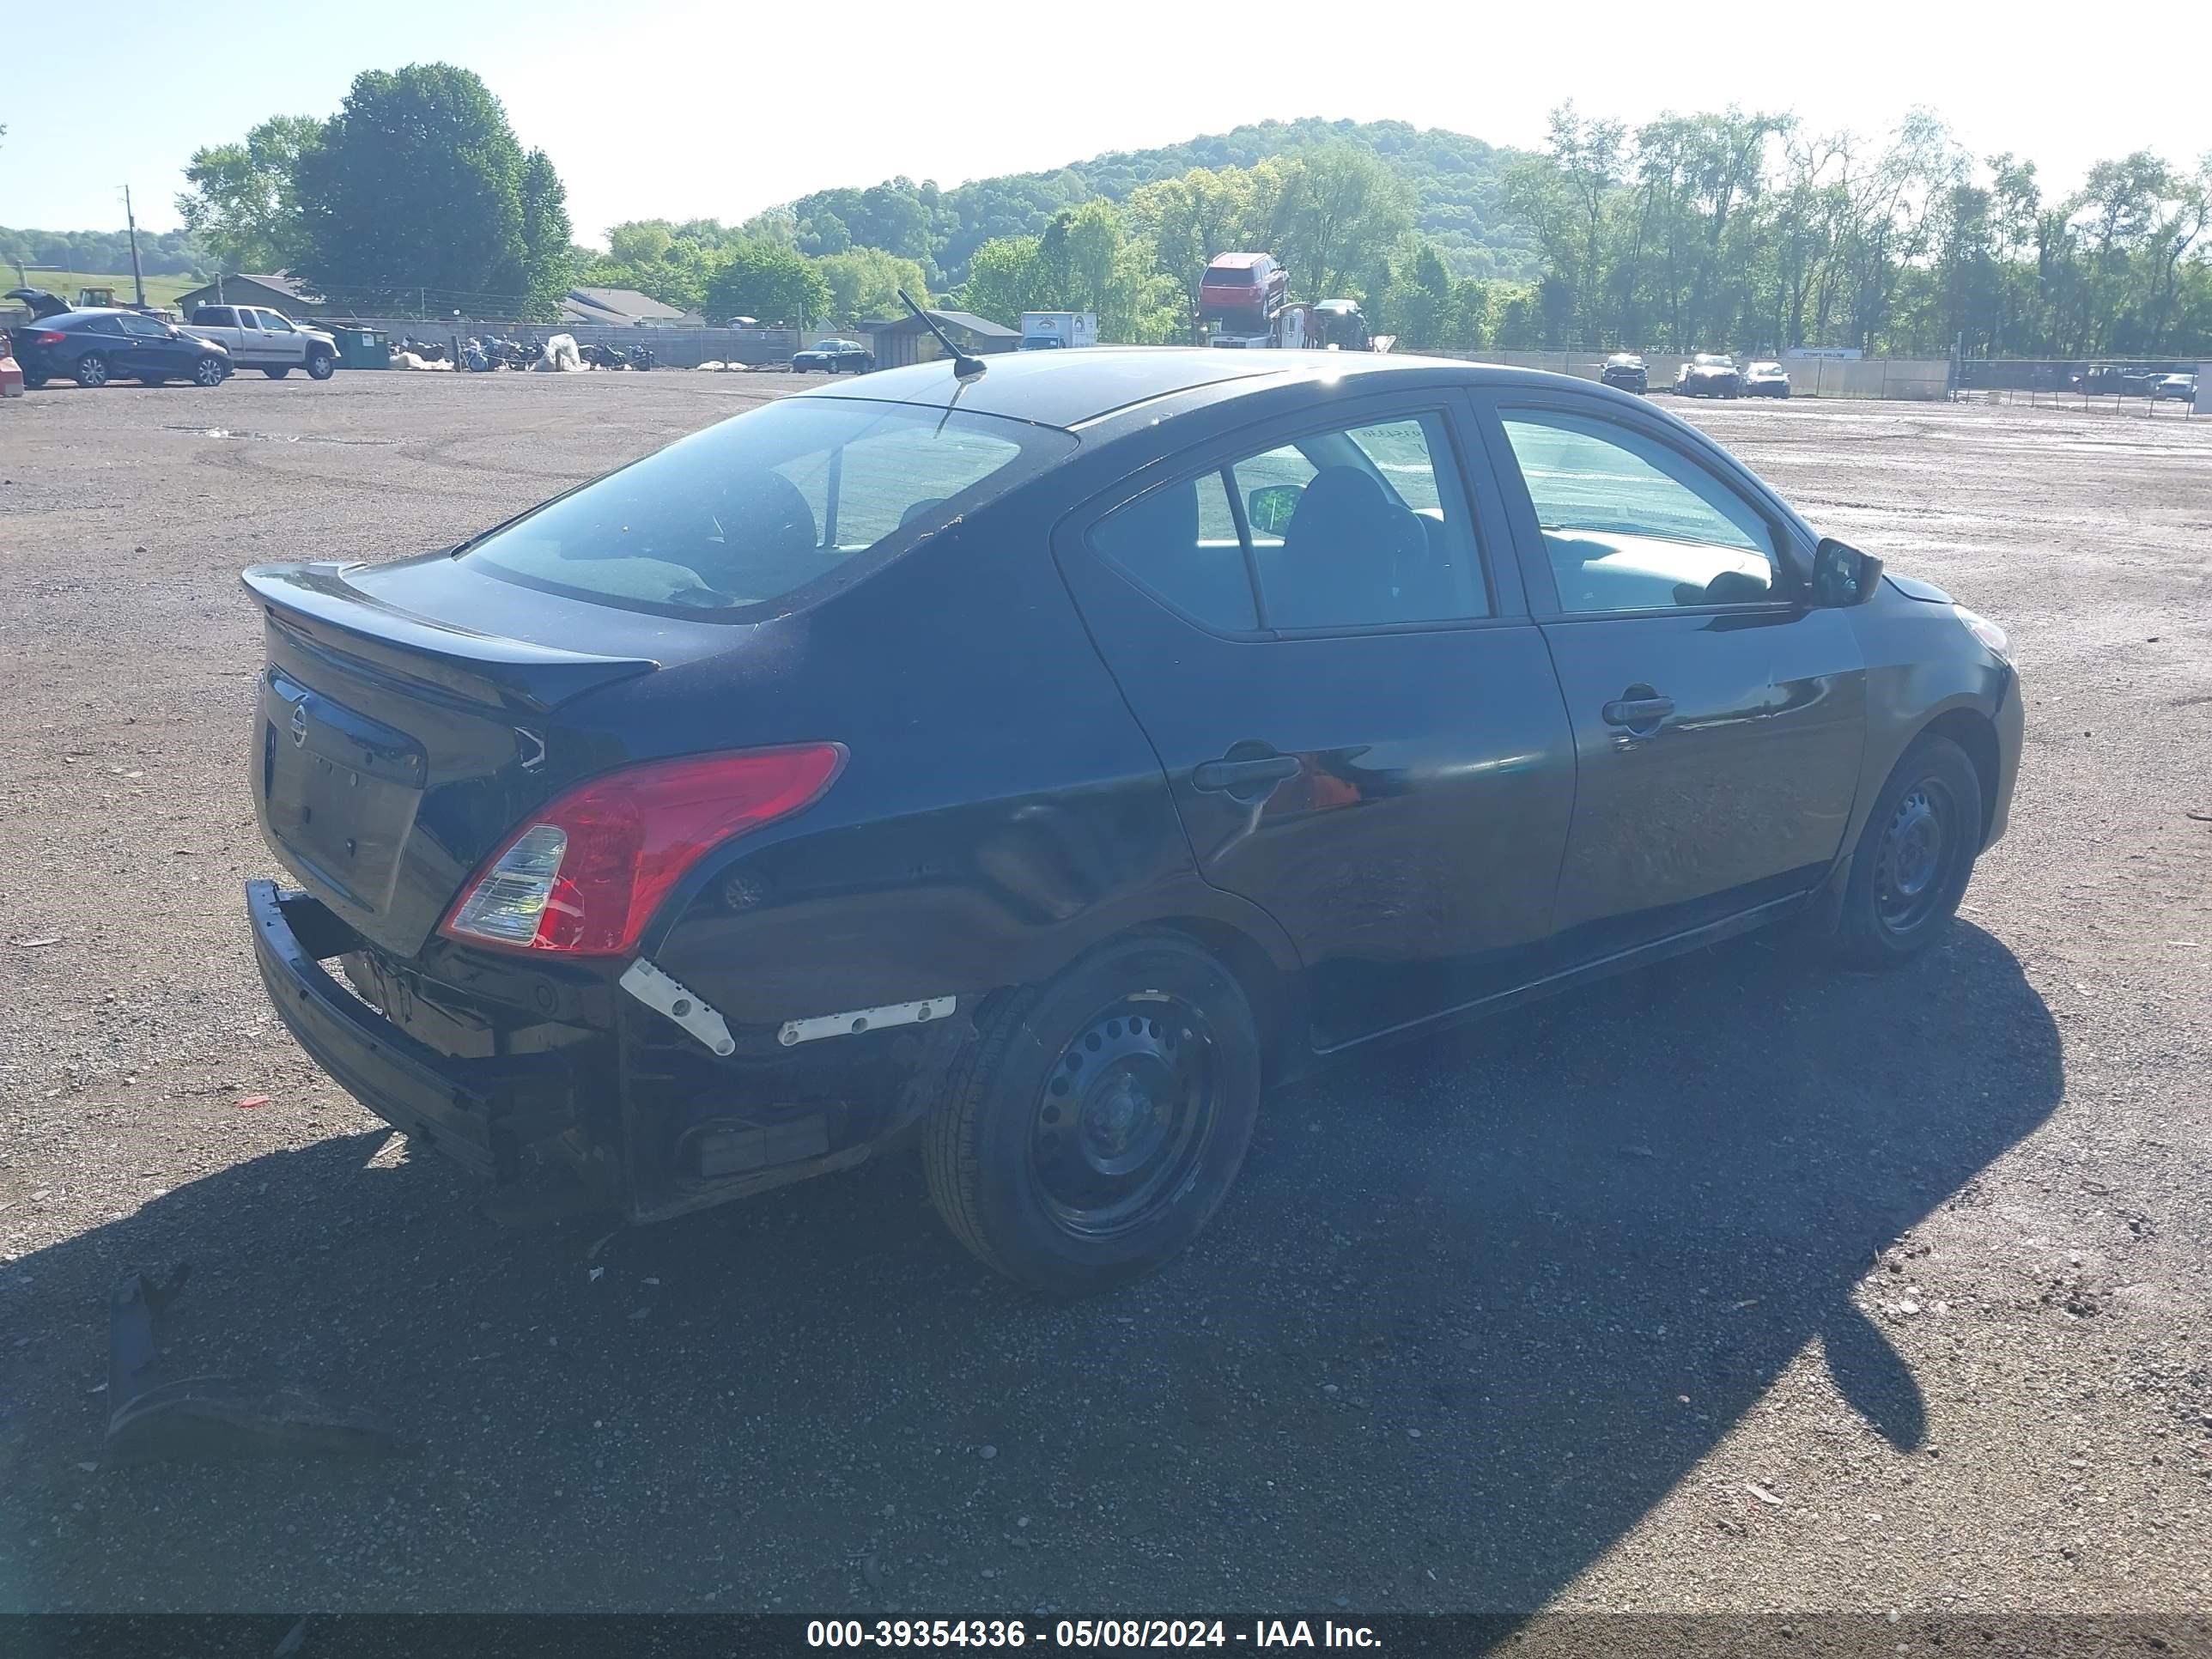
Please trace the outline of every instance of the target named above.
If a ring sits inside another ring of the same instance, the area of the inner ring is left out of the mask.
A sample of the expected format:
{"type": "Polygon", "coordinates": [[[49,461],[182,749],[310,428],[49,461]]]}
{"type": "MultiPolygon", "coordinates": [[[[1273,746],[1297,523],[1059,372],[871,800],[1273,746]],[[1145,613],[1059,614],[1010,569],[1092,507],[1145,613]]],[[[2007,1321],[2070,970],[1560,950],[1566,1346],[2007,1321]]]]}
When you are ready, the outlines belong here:
{"type": "Polygon", "coordinates": [[[922,1135],[938,1214],[1053,1296],[1150,1272],[1212,1219],[1259,1115],[1243,987],[1175,933],[1102,945],[980,1022],[922,1135]]]}

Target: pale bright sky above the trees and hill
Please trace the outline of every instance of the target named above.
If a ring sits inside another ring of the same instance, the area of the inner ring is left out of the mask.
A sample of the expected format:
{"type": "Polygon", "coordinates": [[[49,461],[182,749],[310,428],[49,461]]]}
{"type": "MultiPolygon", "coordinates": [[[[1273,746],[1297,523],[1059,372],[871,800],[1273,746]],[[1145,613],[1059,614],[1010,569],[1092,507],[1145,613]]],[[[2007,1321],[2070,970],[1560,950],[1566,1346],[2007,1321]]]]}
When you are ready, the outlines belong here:
{"type": "MultiPolygon", "coordinates": [[[[1931,104],[1975,155],[2037,159],[2053,195],[2106,155],[2212,150],[2205,0],[2112,7],[2095,18],[2124,35],[2093,40],[2068,40],[2084,13],[2062,29],[2057,7],[1942,0],[228,0],[199,15],[113,13],[102,93],[31,73],[44,31],[18,31],[0,71],[0,223],[119,226],[128,181],[142,223],[173,228],[197,146],[274,113],[327,115],[358,71],[431,60],[478,71],[522,142],[551,153],[580,241],[622,219],[734,221],[838,184],[905,173],[949,186],[1265,117],[1402,119],[1533,146],[1564,97],[1628,122],[1781,106],[1863,133],[1931,104]]],[[[64,33],[84,40],[82,24],[64,33]]]]}

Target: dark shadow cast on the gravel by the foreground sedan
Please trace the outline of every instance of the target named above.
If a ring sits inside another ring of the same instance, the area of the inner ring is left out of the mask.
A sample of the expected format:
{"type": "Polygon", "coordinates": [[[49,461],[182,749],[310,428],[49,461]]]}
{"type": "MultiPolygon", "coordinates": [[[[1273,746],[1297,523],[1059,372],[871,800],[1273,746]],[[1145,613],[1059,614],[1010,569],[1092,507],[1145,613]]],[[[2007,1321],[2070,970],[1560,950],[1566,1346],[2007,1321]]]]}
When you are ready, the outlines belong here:
{"type": "Polygon", "coordinates": [[[905,1159],[593,1259],[327,1139],[0,1267],[0,1608],[1528,1610],[1677,1486],[1683,1548],[1794,1502],[1701,1460],[1807,1349],[1798,1433],[1940,1449],[1854,1287],[2059,1093],[1975,927],[1889,978],[1747,940],[1274,1095],[1201,1248],[1077,1307],[905,1159]],[[82,1471],[104,1292],[175,1259],[170,1374],[416,1455],[82,1471]]]}

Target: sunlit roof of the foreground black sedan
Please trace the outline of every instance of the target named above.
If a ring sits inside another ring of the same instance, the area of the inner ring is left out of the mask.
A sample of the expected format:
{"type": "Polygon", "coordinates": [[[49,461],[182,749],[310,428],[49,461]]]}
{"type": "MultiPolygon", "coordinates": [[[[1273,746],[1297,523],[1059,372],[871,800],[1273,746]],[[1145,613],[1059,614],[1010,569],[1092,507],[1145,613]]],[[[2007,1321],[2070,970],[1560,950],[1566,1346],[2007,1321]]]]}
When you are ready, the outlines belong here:
{"type": "MultiPolygon", "coordinates": [[[[863,380],[799,392],[801,398],[865,398],[914,403],[929,409],[960,407],[1026,420],[1037,427],[1082,427],[1104,416],[1181,392],[1214,387],[1243,396],[1298,380],[1367,380],[1385,392],[1391,380],[1451,378],[1458,383],[1557,383],[1564,376],[1495,363],[1427,358],[1383,352],[1223,352],[1194,345],[1091,345],[1077,352],[995,352],[980,376],[960,385],[951,363],[880,369],[863,380]]],[[[1573,380],[1595,389],[1590,380],[1573,380]]]]}

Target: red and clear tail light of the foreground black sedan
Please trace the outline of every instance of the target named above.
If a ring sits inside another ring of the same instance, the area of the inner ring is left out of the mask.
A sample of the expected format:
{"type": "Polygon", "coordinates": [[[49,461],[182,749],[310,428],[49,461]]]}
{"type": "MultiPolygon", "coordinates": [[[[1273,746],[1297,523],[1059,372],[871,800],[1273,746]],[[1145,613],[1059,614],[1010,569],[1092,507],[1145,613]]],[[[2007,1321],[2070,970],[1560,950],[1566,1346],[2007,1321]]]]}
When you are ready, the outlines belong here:
{"type": "Polygon", "coordinates": [[[467,945],[626,956],[701,856],[814,805],[843,763],[836,743],[803,743],[648,761],[580,783],[509,836],[440,931],[467,945]]]}

